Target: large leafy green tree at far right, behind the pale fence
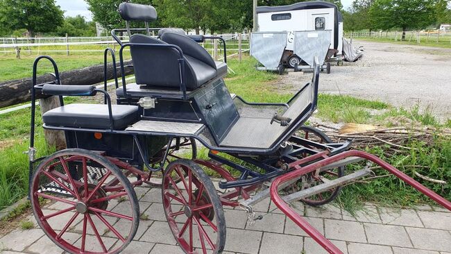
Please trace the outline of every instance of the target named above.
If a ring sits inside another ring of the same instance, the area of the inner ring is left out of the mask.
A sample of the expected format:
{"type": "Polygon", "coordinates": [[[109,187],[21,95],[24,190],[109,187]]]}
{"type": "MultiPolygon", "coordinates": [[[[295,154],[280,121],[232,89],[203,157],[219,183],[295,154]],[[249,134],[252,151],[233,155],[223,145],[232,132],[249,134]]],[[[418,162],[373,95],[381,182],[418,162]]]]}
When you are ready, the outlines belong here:
{"type": "Polygon", "coordinates": [[[375,0],[368,14],[375,28],[420,29],[436,21],[437,0],[375,0]]]}

